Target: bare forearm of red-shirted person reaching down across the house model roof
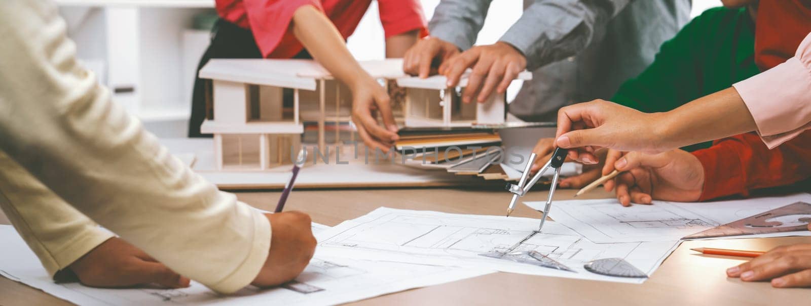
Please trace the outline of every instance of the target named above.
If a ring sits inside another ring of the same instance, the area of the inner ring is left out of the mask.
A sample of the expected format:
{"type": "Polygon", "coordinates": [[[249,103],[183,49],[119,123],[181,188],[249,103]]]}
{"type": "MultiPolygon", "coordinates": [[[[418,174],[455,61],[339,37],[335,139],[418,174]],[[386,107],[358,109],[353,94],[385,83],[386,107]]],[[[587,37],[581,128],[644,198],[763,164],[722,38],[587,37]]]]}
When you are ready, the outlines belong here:
{"type": "Polygon", "coordinates": [[[327,16],[313,6],[302,6],[293,15],[293,33],[324,68],[350,88],[372,80],[355,61],[341,34],[327,16]]]}

